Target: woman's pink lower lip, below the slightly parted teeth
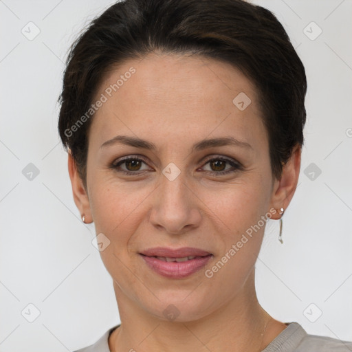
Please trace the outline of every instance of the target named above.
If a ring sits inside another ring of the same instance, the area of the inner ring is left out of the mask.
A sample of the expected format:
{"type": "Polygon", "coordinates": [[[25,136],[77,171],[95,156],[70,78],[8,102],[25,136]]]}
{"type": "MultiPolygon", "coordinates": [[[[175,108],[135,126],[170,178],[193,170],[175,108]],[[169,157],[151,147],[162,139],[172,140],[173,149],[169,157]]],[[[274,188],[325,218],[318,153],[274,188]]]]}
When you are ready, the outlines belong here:
{"type": "Polygon", "coordinates": [[[154,258],[152,256],[144,256],[140,254],[146,264],[157,274],[162,276],[166,276],[168,278],[185,278],[186,276],[190,276],[194,274],[198,270],[208,263],[212,254],[208,256],[201,256],[195,259],[190,259],[188,261],[177,262],[169,262],[169,261],[161,261],[160,259],[154,258]]]}

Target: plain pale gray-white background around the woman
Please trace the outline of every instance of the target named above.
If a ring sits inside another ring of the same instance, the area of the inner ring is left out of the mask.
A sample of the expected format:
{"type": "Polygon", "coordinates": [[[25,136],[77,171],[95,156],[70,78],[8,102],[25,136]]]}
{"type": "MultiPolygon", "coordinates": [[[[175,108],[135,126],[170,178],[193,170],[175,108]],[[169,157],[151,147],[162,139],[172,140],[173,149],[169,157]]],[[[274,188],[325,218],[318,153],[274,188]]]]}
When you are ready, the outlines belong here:
{"type": "MultiPolygon", "coordinates": [[[[308,333],[352,340],[352,1],[254,2],[283,23],[308,80],[299,186],[283,217],[283,245],[278,221],[267,225],[259,301],[308,333]]],[[[72,351],[120,322],[56,127],[67,49],[112,3],[0,1],[2,352],[72,351]]]]}

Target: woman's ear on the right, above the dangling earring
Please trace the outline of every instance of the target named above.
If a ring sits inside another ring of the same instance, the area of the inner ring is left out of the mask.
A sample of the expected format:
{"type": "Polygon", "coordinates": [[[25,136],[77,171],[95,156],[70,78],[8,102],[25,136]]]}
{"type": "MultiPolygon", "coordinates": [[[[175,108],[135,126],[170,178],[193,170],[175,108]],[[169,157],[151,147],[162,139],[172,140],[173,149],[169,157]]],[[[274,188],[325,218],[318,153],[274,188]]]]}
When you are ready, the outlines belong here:
{"type": "Polygon", "coordinates": [[[297,144],[292,151],[291,157],[287,163],[283,165],[281,179],[275,179],[274,181],[271,208],[274,208],[276,213],[272,216],[272,219],[280,219],[280,209],[283,208],[285,211],[292,197],[294,197],[300,174],[301,152],[302,148],[297,144]]]}

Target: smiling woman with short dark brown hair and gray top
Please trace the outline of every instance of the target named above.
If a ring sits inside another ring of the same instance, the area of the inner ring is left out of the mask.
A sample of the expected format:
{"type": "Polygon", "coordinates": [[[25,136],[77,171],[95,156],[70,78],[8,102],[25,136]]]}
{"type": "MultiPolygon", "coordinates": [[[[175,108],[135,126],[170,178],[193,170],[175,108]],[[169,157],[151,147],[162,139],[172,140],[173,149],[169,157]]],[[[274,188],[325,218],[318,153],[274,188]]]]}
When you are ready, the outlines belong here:
{"type": "Polygon", "coordinates": [[[297,186],[306,89],[281,23],[245,1],[126,0],[91,23],[58,126],[122,323],[80,351],[352,349],[256,298],[265,223],[297,186]]]}

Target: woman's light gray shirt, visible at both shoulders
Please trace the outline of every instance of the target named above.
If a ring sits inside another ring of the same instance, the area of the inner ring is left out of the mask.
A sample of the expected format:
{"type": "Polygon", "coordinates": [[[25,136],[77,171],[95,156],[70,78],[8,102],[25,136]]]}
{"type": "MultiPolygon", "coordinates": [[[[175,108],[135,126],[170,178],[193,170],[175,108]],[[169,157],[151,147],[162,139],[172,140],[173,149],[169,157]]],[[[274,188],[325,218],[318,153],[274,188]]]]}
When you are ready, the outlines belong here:
{"type": "MultiPolygon", "coordinates": [[[[352,342],[325,336],[309,335],[298,322],[286,322],[287,328],[272,340],[262,352],[351,352],[352,342]]],[[[120,325],[109,329],[95,343],[75,352],[110,352],[109,336],[120,325]]]]}

